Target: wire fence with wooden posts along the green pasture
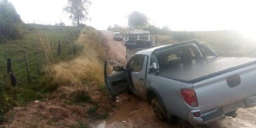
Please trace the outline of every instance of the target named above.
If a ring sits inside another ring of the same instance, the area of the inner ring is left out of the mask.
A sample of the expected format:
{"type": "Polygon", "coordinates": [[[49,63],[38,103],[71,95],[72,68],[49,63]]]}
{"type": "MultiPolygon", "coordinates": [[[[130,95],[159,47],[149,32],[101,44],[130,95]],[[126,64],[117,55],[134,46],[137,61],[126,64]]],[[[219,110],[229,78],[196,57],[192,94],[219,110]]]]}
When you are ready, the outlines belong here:
{"type": "MultiPolygon", "coordinates": [[[[83,51],[82,45],[74,43],[77,36],[77,33],[70,32],[59,40],[48,42],[52,59],[56,60],[62,56],[73,58],[77,52],[83,51]]],[[[22,52],[20,56],[10,57],[5,61],[0,60],[0,82],[17,86],[33,83],[40,77],[40,74],[44,74],[45,51],[41,48],[38,47],[35,51],[22,52]],[[7,80],[8,82],[6,82],[7,80]]]]}

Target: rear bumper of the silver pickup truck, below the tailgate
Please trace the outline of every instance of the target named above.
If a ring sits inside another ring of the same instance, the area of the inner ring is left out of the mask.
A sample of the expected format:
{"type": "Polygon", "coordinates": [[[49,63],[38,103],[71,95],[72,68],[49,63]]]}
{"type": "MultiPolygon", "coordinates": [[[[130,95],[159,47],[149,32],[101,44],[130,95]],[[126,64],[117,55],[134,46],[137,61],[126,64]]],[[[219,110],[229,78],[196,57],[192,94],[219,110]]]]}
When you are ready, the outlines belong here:
{"type": "MultiPolygon", "coordinates": [[[[244,108],[252,108],[256,106],[256,95],[253,97],[248,97],[243,100],[245,107],[244,108]]],[[[208,124],[210,122],[214,122],[216,120],[220,120],[225,117],[225,113],[222,108],[217,108],[207,113],[202,114],[200,117],[195,117],[193,113],[200,112],[200,109],[195,109],[189,112],[188,121],[191,124],[208,124]]]]}

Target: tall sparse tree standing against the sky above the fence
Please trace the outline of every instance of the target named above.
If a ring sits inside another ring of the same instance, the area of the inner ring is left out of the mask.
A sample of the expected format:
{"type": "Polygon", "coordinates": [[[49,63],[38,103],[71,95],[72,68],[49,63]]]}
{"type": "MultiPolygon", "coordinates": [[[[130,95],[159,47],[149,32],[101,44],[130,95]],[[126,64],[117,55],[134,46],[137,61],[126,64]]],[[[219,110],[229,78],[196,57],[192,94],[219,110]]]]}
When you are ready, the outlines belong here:
{"type": "Polygon", "coordinates": [[[88,7],[91,2],[88,0],[68,0],[68,5],[63,9],[70,13],[70,19],[77,22],[79,26],[80,21],[88,19],[88,7]]]}

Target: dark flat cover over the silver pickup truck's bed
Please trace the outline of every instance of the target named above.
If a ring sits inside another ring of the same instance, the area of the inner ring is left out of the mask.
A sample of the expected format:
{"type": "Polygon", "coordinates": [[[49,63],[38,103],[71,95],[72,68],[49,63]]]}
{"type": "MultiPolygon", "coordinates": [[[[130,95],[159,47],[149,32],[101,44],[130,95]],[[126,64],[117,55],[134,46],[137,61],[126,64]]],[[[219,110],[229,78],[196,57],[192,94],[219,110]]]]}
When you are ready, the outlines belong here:
{"type": "Polygon", "coordinates": [[[256,58],[211,57],[193,60],[186,65],[181,63],[175,67],[160,68],[159,76],[184,83],[196,83],[252,64],[256,64],[256,58]]]}

